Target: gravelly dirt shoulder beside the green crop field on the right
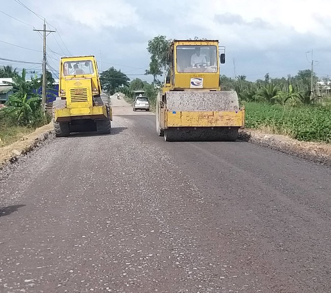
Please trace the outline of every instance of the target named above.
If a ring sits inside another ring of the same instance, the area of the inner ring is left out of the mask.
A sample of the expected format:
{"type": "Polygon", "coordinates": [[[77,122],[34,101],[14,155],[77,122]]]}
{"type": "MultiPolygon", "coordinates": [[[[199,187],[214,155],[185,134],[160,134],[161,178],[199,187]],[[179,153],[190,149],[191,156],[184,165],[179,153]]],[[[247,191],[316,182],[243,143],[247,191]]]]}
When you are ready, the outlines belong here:
{"type": "Polygon", "coordinates": [[[253,129],[240,129],[238,139],[331,167],[331,146],[328,144],[302,142],[253,129]]]}

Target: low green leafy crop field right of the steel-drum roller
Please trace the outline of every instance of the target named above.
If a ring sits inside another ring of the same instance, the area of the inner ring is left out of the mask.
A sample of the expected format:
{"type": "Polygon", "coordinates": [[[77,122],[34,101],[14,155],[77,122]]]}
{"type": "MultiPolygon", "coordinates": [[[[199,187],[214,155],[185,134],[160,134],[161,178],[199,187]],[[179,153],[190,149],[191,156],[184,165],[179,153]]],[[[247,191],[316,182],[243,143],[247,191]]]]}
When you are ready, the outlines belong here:
{"type": "Polygon", "coordinates": [[[300,141],[331,142],[331,109],[245,103],[245,127],[300,141]]]}

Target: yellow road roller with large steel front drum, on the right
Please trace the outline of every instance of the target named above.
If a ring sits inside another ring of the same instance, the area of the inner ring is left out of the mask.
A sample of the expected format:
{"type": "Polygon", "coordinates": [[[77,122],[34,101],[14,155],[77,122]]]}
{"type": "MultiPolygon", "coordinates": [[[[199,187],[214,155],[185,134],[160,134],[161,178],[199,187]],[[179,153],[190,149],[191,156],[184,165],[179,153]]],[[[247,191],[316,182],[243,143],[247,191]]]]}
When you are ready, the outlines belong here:
{"type": "Polygon", "coordinates": [[[156,132],[167,142],[235,141],[244,127],[236,91],[223,91],[219,65],[225,47],[218,40],[174,40],[170,74],[156,101],[156,132]]]}

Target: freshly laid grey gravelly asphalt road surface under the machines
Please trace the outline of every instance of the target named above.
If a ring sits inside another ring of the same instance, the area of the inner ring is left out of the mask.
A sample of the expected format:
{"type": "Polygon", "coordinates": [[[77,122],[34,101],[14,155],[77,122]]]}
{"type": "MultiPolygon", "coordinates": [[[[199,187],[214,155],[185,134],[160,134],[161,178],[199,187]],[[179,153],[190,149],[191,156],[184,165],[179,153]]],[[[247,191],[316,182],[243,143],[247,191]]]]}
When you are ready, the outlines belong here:
{"type": "Polygon", "coordinates": [[[52,140],[3,174],[0,292],[331,292],[329,169],[166,143],[113,102],[111,135],[52,140]]]}

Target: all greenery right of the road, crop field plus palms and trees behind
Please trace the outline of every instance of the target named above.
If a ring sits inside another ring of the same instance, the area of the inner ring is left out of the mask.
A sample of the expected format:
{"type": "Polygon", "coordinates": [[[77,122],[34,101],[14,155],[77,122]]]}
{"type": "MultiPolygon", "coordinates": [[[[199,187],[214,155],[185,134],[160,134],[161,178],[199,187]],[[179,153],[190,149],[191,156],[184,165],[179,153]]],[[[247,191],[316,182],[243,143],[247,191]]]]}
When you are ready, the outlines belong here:
{"type": "Polygon", "coordinates": [[[245,106],[246,128],[300,141],[331,142],[328,78],[319,79],[304,70],[287,78],[272,79],[266,74],[264,80],[255,82],[245,76],[221,76],[220,82],[224,90],[237,91],[245,106]]]}

